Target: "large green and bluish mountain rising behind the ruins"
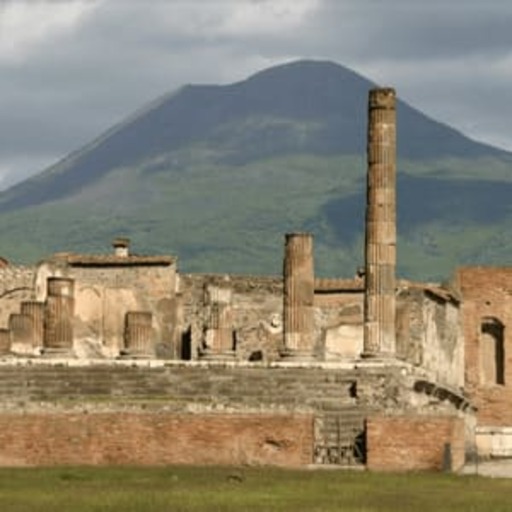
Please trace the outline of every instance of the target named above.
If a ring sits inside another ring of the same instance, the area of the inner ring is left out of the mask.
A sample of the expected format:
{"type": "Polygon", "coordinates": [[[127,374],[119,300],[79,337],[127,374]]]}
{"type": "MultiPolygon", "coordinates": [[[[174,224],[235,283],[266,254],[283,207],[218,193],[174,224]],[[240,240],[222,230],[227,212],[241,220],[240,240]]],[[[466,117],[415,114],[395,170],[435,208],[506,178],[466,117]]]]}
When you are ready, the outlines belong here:
{"type": "MultiPolygon", "coordinates": [[[[2,255],[104,250],[124,235],[183,271],[279,273],[283,234],[309,230],[318,273],[352,275],[374,86],[322,61],[184,86],[1,193],[2,255]]],[[[512,154],[400,100],[397,122],[400,272],[506,263],[512,154]]]]}

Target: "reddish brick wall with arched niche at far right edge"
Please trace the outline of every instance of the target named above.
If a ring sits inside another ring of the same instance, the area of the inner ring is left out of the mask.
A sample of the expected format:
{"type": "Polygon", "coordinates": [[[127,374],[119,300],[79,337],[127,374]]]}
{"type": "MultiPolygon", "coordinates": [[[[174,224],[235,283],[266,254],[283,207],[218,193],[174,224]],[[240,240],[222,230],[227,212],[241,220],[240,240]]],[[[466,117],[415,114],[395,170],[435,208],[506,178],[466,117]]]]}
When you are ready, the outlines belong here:
{"type": "Polygon", "coordinates": [[[512,267],[463,267],[456,278],[462,295],[466,390],[478,409],[478,423],[512,426],[512,267]],[[486,332],[489,324],[500,327],[495,339],[486,332]],[[501,350],[489,353],[499,344],[501,350]],[[494,364],[494,378],[487,374],[486,362],[494,364]]]}

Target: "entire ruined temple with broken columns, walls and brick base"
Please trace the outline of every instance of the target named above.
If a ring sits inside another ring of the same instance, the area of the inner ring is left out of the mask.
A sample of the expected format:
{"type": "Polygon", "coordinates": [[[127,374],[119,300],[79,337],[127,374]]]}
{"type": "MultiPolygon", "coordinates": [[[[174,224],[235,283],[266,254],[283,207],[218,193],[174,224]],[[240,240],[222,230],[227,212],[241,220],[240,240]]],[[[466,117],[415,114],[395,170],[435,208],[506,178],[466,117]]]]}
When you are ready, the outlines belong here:
{"type": "Polygon", "coordinates": [[[290,233],[279,277],[171,256],[0,265],[0,465],[460,469],[512,456],[512,268],[396,277],[396,116],[370,91],[365,266],[318,279],[290,233]]]}

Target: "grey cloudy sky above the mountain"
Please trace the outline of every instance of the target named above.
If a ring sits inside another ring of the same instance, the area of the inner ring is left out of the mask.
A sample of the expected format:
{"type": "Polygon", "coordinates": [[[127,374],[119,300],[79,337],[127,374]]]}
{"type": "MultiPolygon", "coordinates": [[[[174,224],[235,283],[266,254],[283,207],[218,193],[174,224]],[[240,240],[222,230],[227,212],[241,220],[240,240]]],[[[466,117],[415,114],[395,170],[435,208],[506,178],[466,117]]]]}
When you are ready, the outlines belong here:
{"type": "Polygon", "coordinates": [[[512,150],[510,0],[0,0],[0,188],[186,83],[333,60],[512,150]]]}

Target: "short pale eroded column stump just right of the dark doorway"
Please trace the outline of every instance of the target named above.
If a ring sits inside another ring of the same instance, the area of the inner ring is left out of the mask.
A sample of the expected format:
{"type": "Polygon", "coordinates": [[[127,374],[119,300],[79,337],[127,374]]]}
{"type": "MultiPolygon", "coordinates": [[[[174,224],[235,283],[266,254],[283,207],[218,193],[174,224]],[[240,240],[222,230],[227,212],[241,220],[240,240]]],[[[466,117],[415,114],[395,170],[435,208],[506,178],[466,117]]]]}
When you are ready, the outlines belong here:
{"type": "Polygon", "coordinates": [[[200,351],[202,359],[232,359],[235,356],[231,300],[231,288],[210,285],[205,289],[208,319],[200,351]]]}

